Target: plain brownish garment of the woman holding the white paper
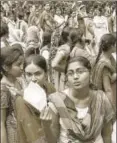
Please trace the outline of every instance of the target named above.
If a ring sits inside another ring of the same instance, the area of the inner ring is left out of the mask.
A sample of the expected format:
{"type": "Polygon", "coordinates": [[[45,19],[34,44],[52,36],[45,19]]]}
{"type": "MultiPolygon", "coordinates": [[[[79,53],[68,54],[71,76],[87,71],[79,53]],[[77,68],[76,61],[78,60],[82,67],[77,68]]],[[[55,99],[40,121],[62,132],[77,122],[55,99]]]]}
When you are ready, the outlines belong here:
{"type": "MultiPolygon", "coordinates": [[[[49,83],[44,85],[44,89],[47,95],[55,92],[49,83]]],[[[16,100],[16,111],[19,143],[47,143],[39,111],[26,103],[22,97],[16,100]]]]}

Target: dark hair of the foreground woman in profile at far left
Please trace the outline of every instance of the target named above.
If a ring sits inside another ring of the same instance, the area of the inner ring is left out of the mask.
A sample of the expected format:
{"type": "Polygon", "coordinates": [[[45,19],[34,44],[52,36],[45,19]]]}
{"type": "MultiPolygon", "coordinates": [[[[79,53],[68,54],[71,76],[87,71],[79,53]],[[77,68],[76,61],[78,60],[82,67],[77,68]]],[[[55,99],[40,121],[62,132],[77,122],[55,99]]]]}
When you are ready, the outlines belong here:
{"type": "Polygon", "coordinates": [[[11,66],[23,54],[24,52],[20,44],[2,48],[0,56],[2,74],[6,75],[6,71],[3,68],[4,65],[11,66]]]}

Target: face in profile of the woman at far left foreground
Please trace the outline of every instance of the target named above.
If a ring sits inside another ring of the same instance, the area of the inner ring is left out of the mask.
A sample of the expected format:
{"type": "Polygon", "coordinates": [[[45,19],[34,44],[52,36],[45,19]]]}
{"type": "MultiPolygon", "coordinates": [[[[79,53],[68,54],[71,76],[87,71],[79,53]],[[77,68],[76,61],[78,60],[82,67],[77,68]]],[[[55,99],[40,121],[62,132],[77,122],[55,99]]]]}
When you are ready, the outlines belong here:
{"type": "Polygon", "coordinates": [[[12,77],[20,77],[23,73],[24,57],[20,56],[9,68],[8,74],[12,77]]]}

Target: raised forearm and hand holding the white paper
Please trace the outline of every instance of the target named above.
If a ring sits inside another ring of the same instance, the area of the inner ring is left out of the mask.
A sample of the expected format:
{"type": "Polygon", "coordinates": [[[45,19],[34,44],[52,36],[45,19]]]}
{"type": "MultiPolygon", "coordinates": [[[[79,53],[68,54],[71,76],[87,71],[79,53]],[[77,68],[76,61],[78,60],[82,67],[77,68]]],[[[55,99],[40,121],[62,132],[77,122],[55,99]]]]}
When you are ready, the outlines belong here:
{"type": "Polygon", "coordinates": [[[59,118],[58,118],[58,114],[55,113],[51,108],[54,108],[54,110],[56,110],[54,105],[49,103],[49,106],[46,107],[41,112],[40,118],[42,120],[42,125],[43,125],[48,142],[57,143],[59,132],[60,132],[59,118]]]}

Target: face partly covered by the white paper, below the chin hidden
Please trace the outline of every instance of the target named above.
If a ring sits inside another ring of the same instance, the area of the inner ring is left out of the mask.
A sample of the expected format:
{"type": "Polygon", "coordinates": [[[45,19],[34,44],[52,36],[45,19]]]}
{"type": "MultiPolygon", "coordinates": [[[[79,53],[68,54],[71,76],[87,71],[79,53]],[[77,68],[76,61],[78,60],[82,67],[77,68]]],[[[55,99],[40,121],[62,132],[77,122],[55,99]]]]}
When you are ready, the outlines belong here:
{"type": "Polygon", "coordinates": [[[43,86],[45,82],[46,73],[41,67],[33,62],[25,67],[25,75],[28,83],[32,81],[38,83],[40,86],[43,86]]]}

